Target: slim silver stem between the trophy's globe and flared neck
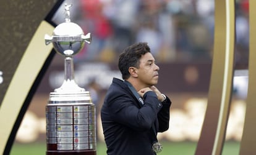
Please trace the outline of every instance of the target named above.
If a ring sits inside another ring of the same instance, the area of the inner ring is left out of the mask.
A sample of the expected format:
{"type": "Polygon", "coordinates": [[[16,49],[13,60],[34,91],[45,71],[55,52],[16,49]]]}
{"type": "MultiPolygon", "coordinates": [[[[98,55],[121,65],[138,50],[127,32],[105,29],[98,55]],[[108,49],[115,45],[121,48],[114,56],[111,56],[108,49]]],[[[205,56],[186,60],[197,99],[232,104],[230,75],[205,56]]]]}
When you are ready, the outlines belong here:
{"type": "Polygon", "coordinates": [[[65,81],[74,80],[74,63],[72,56],[65,57],[65,81]]]}

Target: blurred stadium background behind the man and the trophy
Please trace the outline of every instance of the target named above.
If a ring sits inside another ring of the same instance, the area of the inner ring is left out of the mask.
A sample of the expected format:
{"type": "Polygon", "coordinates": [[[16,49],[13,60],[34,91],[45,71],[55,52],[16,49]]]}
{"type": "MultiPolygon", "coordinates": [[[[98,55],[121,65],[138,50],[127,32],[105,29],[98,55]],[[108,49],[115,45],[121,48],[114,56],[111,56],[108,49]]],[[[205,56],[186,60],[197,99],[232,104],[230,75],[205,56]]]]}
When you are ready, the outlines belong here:
{"type": "MultiPolygon", "coordinates": [[[[74,57],[75,81],[96,105],[97,153],[106,154],[100,108],[113,77],[120,78],[119,54],[135,42],[148,42],[160,66],[158,89],[173,101],[170,128],[158,135],[163,153],[194,154],[207,108],[215,24],[214,0],[69,0],[71,22],[92,33],[74,57]],[[184,149],[185,148],[185,149],[184,149]],[[164,151],[165,150],[165,151],[164,151]]],[[[65,3],[64,2],[64,3],[65,3]]],[[[64,22],[64,3],[53,18],[64,22]]],[[[236,0],[236,70],[247,70],[249,2],[236,0]]],[[[51,34],[52,32],[49,32],[51,34]]],[[[43,38],[43,36],[42,36],[43,38]]],[[[44,42],[38,42],[44,44],[44,42]]],[[[49,92],[64,81],[64,58],[56,54],[25,114],[11,154],[35,149],[45,154],[45,106],[49,92]],[[33,146],[33,147],[31,147],[33,146]],[[26,149],[27,150],[27,149],[26,149]]],[[[239,154],[245,116],[247,76],[234,76],[223,154],[239,154]]],[[[26,151],[26,154],[30,154],[26,151]]]]}

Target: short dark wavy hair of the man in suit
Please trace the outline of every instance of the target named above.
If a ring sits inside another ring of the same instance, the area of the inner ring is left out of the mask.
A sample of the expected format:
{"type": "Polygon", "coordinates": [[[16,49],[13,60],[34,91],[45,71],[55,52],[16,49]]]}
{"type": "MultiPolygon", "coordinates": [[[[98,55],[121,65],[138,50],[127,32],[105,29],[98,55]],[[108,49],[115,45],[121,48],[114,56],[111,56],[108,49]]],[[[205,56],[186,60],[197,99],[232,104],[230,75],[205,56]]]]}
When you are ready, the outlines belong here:
{"type": "Polygon", "coordinates": [[[150,52],[150,47],[147,42],[139,42],[124,49],[121,55],[119,55],[118,67],[122,74],[122,79],[128,79],[130,77],[129,67],[133,66],[139,68],[140,58],[142,55],[150,52]]]}

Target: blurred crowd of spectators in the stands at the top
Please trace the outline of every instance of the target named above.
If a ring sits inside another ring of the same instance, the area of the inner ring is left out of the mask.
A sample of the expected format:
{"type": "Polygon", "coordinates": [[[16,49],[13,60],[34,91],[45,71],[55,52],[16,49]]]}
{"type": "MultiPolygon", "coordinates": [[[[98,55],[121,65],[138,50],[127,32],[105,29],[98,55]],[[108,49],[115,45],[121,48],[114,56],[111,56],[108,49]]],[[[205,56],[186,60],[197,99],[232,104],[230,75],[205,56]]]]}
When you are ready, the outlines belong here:
{"type": "MultiPolygon", "coordinates": [[[[210,62],[213,52],[214,0],[66,0],[71,22],[92,33],[91,45],[75,55],[115,62],[134,42],[148,42],[158,62],[210,62]]],[[[64,2],[65,3],[65,2],[64,2]]],[[[64,22],[64,7],[54,21],[64,22]]],[[[248,57],[248,0],[236,0],[237,61],[248,57]]]]}

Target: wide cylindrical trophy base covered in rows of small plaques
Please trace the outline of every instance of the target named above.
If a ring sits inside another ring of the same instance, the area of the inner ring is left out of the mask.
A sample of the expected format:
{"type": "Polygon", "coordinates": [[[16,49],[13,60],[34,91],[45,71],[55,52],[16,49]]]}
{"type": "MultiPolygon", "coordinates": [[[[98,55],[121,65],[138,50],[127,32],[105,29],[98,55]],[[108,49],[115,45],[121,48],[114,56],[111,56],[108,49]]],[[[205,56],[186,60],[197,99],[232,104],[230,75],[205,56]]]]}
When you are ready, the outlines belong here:
{"type": "Polygon", "coordinates": [[[96,155],[95,135],[95,105],[88,92],[50,93],[46,106],[47,155],[96,155]]]}

